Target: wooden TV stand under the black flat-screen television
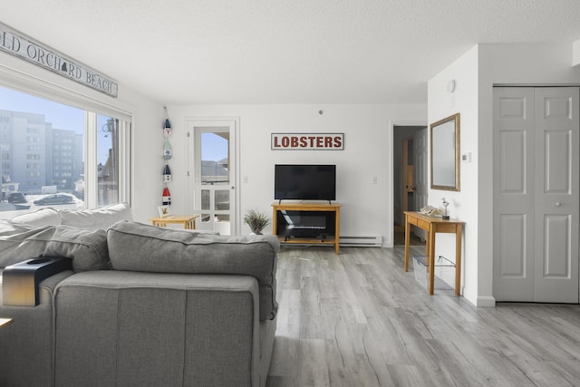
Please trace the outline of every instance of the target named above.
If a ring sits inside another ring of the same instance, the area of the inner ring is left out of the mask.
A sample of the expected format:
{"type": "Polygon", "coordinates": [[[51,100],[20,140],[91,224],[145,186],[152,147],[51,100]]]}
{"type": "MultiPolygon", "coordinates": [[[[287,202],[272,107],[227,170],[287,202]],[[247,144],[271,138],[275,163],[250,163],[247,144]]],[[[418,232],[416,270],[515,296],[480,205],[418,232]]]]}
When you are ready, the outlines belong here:
{"type": "Polygon", "coordinates": [[[272,203],[274,214],[272,216],[272,233],[278,236],[278,211],[332,211],[334,213],[334,236],[324,239],[315,237],[293,237],[287,239],[280,237],[280,243],[296,243],[296,244],[332,244],[336,254],[340,252],[340,204],[336,203],[272,203]]]}

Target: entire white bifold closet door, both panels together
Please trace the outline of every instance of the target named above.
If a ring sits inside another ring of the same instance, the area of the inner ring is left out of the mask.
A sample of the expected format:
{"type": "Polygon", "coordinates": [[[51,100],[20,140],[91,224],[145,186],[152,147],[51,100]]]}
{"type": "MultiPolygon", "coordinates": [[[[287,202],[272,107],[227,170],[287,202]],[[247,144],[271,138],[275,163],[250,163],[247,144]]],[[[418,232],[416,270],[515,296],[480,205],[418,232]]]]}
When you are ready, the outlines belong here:
{"type": "Polygon", "coordinates": [[[494,88],[494,297],[578,303],[577,87],[494,88]]]}

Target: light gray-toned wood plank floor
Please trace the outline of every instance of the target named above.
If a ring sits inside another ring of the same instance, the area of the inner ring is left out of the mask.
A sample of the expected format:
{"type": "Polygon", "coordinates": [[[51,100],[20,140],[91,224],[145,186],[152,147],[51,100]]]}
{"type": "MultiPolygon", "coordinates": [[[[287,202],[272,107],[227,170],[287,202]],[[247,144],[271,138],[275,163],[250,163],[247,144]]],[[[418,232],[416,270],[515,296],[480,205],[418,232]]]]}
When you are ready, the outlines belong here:
{"type": "Polygon", "coordinates": [[[402,254],[282,247],[266,386],[580,385],[580,306],[430,296],[402,254]]]}

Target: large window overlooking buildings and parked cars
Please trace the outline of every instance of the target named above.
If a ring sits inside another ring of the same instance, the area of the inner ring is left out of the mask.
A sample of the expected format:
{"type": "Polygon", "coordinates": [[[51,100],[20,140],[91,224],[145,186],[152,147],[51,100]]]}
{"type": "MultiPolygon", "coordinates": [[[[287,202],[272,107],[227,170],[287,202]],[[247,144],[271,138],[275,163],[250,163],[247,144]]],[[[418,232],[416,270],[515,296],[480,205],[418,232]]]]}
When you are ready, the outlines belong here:
{"type": "Polygon", "coordinates": [[[0,160],[11,161],[0,165],[0,218],[33,211],[39,207],[35,199],[56,192],[75,197],[62,208],[130,198],[129,181],[120,180],[128,180],[131,170],[130,122],[1,86],[0,116],[6,122],[0,160]],[[27,203],[6,206],[5,198],[16,191],[27,203]]]}

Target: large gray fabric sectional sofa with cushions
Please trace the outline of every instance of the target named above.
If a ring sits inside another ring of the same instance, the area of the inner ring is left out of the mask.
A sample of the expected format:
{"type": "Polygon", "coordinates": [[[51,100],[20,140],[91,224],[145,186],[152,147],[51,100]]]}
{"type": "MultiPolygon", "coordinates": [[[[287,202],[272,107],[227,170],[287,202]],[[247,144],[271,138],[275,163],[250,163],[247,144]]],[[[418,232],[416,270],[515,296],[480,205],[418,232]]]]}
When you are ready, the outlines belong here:
{"type": "Polygon", "coordinates": [[[37,256],[72,264],[40,283],[38,305],[0,303],[14,318],[0,385],[264,386],[277,238],[152,227],[120,220],[126,209],[97,210],[111,226],[87,210],[76,226],[0,221],[0,275],[37,256]]]}

